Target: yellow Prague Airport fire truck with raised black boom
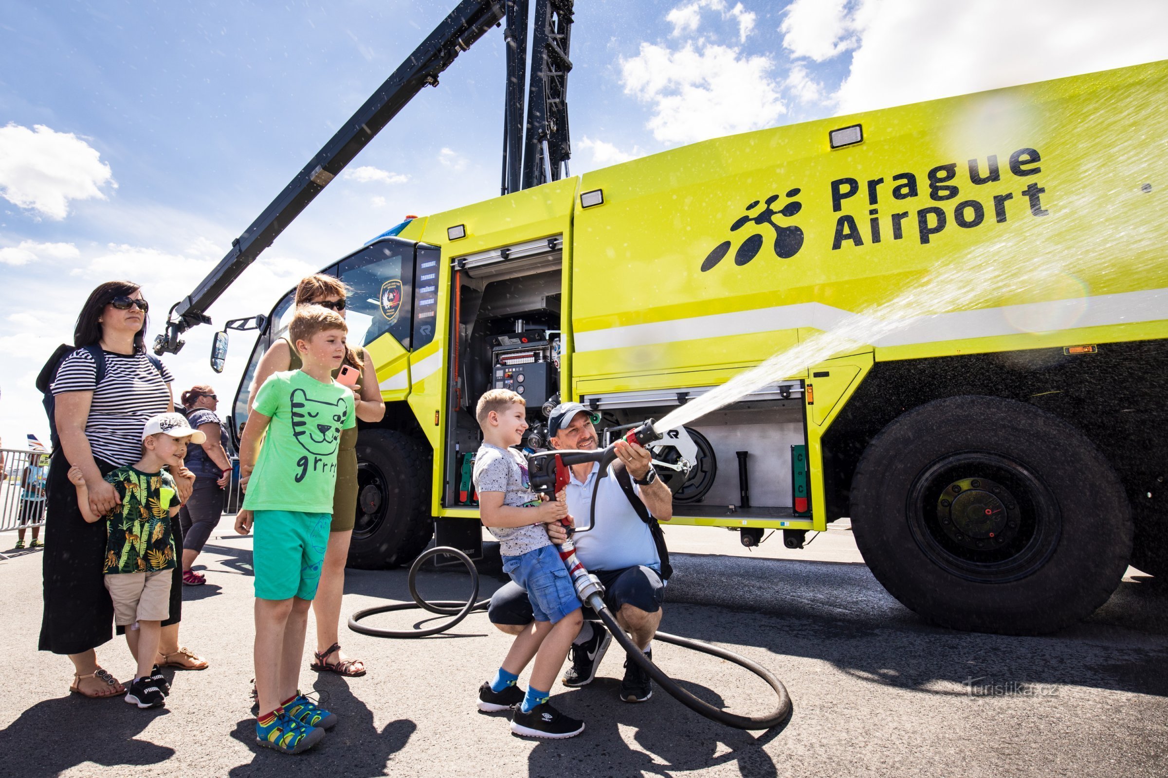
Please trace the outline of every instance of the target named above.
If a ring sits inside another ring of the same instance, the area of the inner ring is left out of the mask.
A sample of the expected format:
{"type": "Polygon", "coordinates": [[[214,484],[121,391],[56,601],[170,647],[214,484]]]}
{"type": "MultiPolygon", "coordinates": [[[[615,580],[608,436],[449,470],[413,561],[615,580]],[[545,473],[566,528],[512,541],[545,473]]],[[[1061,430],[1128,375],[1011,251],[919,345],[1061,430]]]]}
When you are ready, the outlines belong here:
{"type": "MultiPolygon", "coordinates": [[[[506,22],[508,66],[523,66],[526,2],[459,9],[172,311],[159,348],[206,321],[452,51],[506,22]]],[[[353,289],[349,339],[388,408],[361,425],[352,565],[409,562],[436,525],[450,545],[480,537],[470,472],[488,388],[523,394],[531,449],[568,399],[592,409],[603,443],[850,323],[847,348],[654,449],[672,524],[746,545],[777,530],[798,548],[850,518],[894,596],[968,630],[1050,631],[1103,604],[1129,561],[1168,574],[1168,63],[570,176],[571,3],[537,0],[536,16],[526,125],[508,90],[503,194],[410,217],[322,271],[353,289]],[[855,327],[865,316],[870,338],[855,327]]],[[[290,292],[251,322],[236,434],[292,307],[290,292]]]]}

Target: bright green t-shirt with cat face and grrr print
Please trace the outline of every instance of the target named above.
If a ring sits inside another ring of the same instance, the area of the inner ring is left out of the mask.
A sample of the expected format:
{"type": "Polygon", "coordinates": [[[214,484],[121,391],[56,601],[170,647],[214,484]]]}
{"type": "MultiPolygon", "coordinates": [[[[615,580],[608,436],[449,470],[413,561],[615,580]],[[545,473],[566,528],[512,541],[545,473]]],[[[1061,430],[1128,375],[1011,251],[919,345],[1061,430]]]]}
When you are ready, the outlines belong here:
{"type": "Polygon", "coordinates": [[[353,393],[301,370],[272,373],[252,408],[271,416],[243,506],[252,511],[332,513],[336,447],[356,427],[353,393]]]}

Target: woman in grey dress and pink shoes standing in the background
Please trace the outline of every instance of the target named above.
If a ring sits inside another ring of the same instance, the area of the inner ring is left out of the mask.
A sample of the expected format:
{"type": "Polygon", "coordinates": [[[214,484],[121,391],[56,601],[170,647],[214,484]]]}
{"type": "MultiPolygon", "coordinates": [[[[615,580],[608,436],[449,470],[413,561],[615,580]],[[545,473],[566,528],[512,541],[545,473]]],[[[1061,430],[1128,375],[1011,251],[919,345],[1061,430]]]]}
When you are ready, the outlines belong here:
{"type": "Polygon", "coordinates": [[[182,407],[193,429],[206,435],[202,446],[187,448],[187,468],[195,474],[195,490],[179,511],[182,523],[182,582],[188,587],[207,583],[207,576],[190,566],[203,551],[211,530],[223,516],[223,492],[231,482],[229,439],[215,409],[218,397],[210,386],[193,386],[182,393],[182,407]]]}

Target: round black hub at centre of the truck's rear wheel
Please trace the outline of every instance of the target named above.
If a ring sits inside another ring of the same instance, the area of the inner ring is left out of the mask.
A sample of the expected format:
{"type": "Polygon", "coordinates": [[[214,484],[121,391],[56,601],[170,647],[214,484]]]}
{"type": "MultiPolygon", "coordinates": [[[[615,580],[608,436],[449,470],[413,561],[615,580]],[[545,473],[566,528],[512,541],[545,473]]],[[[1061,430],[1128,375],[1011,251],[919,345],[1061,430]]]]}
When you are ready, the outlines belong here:
{"type": "Polygon", "coordinates": [[[1011,516],[1017,503],[1009,490],[988,478],[954,481],[937,500],[941,530],[969,549],[993,548],[1006,544],[1017,528],[1011,516]]]}

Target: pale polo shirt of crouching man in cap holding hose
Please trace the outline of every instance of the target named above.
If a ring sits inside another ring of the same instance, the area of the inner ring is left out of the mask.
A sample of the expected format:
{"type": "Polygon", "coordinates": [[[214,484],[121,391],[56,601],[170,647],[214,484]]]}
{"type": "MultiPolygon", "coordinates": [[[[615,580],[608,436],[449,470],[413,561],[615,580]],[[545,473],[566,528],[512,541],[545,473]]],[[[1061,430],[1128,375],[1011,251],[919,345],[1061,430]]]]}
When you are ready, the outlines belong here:
{"type": "MultiPolygon", "coordinates": [[[[568,512],[576,519],[577,526],[588,525],[592,486],[599,470],[600,463],[595,462],[588,481],[580,483],[572,474],[565,486],[568,512]]],[[[635,483],[633,489],[640,493],[635,483]]],[[[612,475],[611,465],[609,475],[600,478],[596,496],[596,527],[576,533],[572,540],[576,542],[576,554],[580,563],[590,570],[619,570],[638,565],[653,569],[661,567],[653,533],[630,505],[628,498],[612,475]]]]}

